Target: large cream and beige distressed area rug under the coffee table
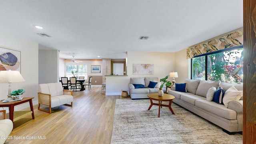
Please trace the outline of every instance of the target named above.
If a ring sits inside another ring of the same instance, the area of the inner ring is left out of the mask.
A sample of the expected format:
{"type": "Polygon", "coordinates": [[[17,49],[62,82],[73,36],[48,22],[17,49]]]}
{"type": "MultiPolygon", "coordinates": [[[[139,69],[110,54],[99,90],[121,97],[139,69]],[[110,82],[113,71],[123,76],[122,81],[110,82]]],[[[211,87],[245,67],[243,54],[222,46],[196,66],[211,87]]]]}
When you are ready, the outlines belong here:
{"type": "MultiPolygon", "coordinates": [[[[157,101],[155,101],[157,103],[157,101]]],[[[111,144],[242,144],[242,135],[222,128],[172,103],[172,110],[150,100],[117,99],[111,144]]]]}

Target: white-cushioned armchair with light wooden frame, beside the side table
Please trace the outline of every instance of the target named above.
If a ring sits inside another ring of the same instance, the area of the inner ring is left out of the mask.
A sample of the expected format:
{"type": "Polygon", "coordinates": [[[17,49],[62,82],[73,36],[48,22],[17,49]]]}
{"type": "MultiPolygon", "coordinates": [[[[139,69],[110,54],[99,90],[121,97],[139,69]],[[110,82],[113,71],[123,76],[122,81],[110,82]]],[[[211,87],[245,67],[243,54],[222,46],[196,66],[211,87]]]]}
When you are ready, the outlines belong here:
{"type": "Polygon", "coordinates": [[[51,113],[51,108],[56,106],[73,106],[73,91],[63,90],[60,82],[39,84],[38,91],[38,110],[51,113]],[[41,104],[48,106],[49,110],[40,108],[41,104]]]}

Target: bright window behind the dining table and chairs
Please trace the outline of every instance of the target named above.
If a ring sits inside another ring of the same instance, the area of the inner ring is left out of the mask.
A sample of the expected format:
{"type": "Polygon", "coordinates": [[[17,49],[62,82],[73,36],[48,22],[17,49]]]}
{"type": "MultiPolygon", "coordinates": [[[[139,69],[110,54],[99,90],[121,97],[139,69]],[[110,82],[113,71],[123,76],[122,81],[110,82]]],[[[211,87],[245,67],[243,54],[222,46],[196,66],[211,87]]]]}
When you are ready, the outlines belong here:
{"type": "Polygon", "coordinates": [[[74,64],[74,65],[66,65],[66,77],[72,77],[72,71],[74,74],[78,76],[84,76],[84,78],[87,78],[87,65],[82,64],[74,64]]]}

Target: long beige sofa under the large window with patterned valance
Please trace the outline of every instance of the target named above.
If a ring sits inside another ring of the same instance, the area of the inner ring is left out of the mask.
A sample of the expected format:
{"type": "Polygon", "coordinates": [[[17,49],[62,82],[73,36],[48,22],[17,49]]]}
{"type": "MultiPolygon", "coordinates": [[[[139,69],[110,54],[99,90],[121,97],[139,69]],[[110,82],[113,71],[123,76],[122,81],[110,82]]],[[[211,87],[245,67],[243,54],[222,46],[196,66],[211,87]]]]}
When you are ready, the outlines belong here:
{"type": "MultiPolygon", "coordinates": [[[[217,104],[214,101],[206,100],[208,90],[213,86],[222,87],[225,92],[234,86],[238,91],[243,90],[242,84],[229,84],[226,82],[209,82],[206,80],[190,80],[186,79],[187,92],[168,90],[168,94],[175,96],[172,101],[191,112],[205,118],[206,120],[220,126],[224,132],[234,134],[241,132],[243,129],[243,100],[231,100],[227,108],[224,104],[217,104]]],[[[178,87],[177,87],[178,88],[178,87]]],[[[225,97],[225,95],[224,95],[225,97]]]]}

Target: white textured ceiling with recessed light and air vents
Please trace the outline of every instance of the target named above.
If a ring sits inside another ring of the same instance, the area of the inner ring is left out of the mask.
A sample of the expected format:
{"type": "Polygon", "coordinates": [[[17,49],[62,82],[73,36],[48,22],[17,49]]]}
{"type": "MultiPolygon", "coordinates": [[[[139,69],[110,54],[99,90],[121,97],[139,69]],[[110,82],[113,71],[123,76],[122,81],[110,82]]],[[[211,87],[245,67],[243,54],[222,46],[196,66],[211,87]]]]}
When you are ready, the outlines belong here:
{"type": "Polygon", "coordinates": [[[1,0],[0,7],[1,31],[66,59],[176,52],[243,26],[243,0],[1,0]]]}

